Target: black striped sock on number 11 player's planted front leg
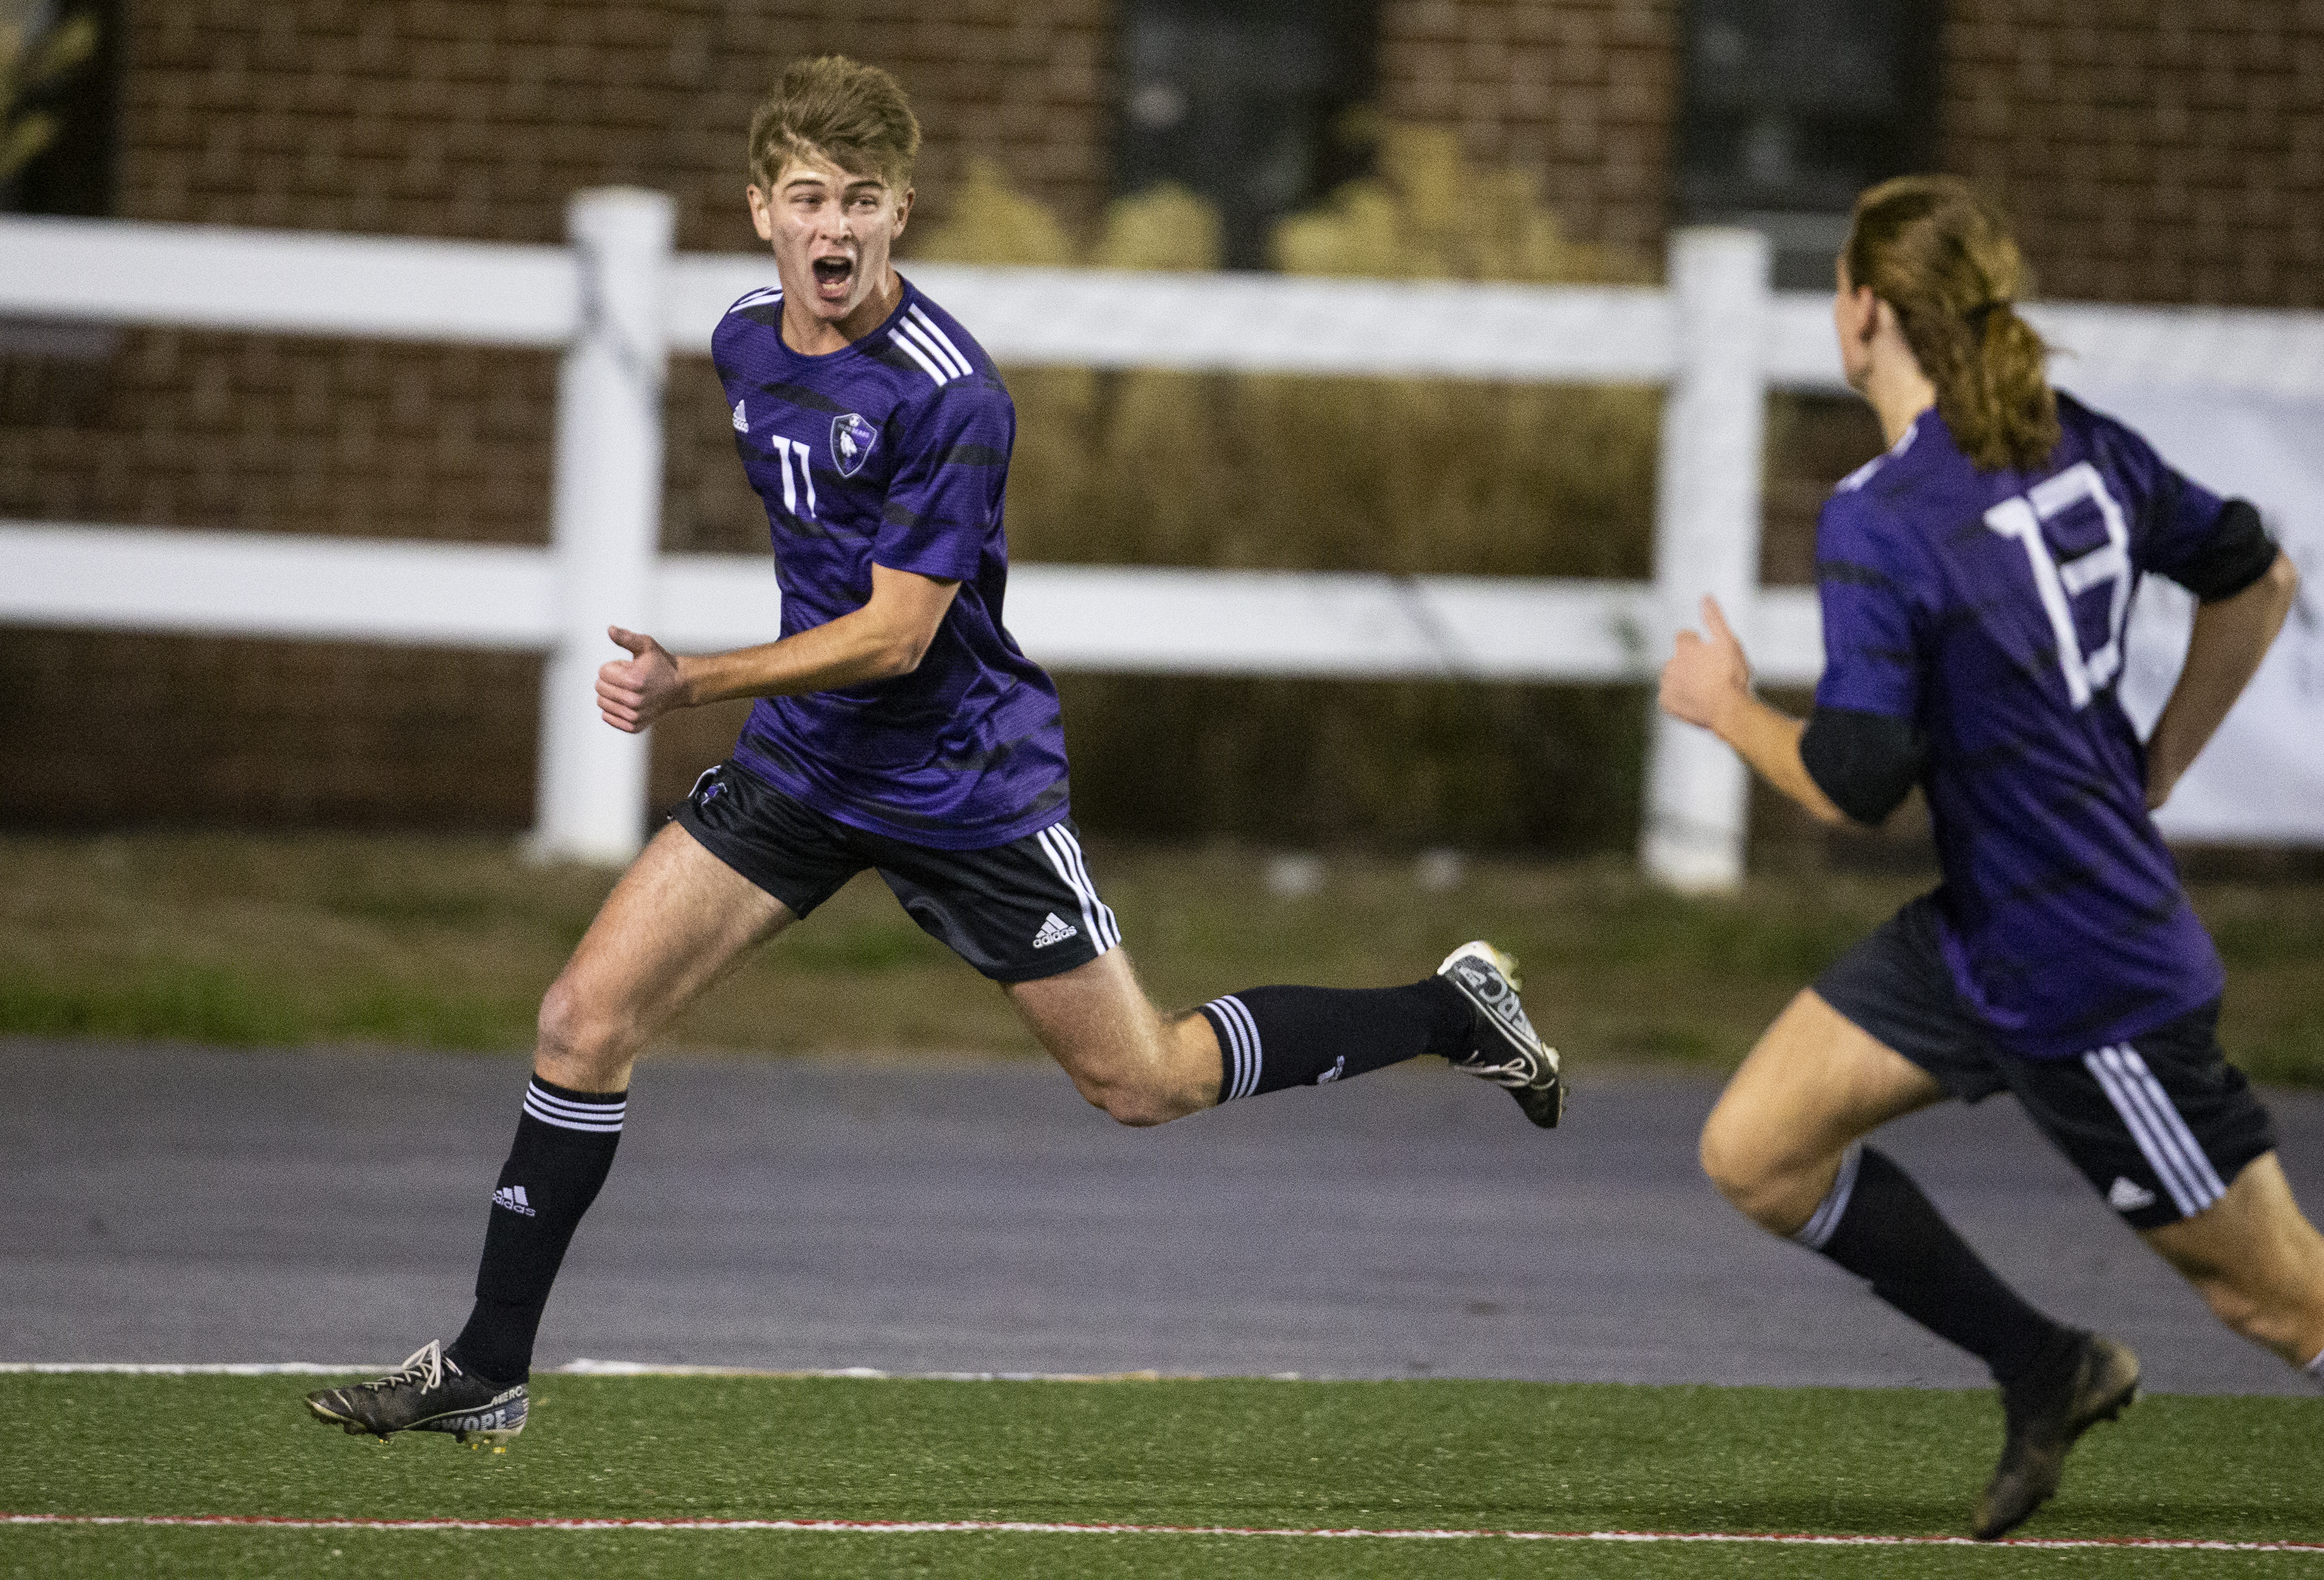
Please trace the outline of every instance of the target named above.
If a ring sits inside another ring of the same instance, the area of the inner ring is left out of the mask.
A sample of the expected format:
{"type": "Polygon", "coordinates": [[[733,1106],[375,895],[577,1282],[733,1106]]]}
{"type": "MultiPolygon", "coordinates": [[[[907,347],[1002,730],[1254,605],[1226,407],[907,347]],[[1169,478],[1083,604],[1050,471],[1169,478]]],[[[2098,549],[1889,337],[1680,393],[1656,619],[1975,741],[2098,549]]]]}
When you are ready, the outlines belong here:
{"type": "Polygon", "coordinates": [[[627,1092],[567,1092],[539,1076],[525,1087],[516,1146],[500,1166],[483,1231],[476,1308],[446,1350],[460,1371],[493,1382],[523,1382],[532,1373],[548,1285],[614,1166],[627,1106],[627,1092]]]}

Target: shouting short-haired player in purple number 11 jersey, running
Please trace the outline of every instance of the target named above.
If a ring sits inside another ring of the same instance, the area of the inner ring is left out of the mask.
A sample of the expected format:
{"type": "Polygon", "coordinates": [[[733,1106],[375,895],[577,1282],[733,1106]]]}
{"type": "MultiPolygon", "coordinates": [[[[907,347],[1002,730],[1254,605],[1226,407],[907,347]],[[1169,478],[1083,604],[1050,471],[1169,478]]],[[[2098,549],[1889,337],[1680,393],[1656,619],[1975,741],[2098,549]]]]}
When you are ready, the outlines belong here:
{"type": "Polygon", "coordinates": [[[1559,1118],[1557,1053],[1487,943],[1404,988],[1250,988],[1185,1015],[1139,988],[1067,816],[1057,690],[1002,625],[1016,409],[976,339],[888,260],[918,142],[902,88],[837,56],[792,63],[753,116],[751,221],[781,288],[741,297],[711,356],[767,504],[781,637],[676,655],[611,632],[630,653],[597,678],[616,730],[758,704],[541,1004],[467,1327],[376,1382],[309,1394],[325,1422],[493,1448],[523,1429],[535,1331],[614,1162],[639,1050],[867,867],[1122,1125],[1422,1053],[1506,1087],[1536,1125],[1559,1118]]]}

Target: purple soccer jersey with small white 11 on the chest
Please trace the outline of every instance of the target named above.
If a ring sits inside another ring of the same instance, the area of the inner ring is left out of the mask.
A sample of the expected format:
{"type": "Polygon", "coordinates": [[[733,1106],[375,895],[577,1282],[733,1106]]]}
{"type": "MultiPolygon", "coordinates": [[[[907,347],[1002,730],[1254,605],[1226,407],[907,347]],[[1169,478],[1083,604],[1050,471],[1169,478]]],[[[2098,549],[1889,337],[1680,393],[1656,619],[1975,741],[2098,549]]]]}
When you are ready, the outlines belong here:
{"type": "Polygon", "coordinates": [[[783,344],[783,293],[753,290],[711,335],[734,448],[767,504],[783,634],[871,597],[871,567],[957,579],[911,674],[760,697],[734,760],[874,834],[981,850],[1067,816],[1057,688],[1002,627],[1002,497],[1016,407],[983,349],[904,281],[844,351],[783,344]]]}

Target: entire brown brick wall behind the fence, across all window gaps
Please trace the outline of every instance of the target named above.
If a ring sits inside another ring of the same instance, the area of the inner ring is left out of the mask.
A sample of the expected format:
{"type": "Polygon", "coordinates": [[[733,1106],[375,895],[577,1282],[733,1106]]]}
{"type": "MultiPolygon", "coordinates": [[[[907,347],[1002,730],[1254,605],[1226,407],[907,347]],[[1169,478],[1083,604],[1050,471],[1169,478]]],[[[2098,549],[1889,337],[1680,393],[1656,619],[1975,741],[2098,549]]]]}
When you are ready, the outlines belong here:
{"type": "MultiPolygon", "coordinates": [[[[1538,174],[1580,239],[1662,249],[1678,0],[1383,0],[1380,109],[1538,174]]],[[[128,5],[132,218],[553,242],[569,191],[679,198],[753,244],[741,135],[779,60],[913,91],[923,221],[969,156],[1069,223],[1106,188],[1109,0],[128,5]]],[[[1952,0],[1943,158],[2010,200],[2045,288],[2324,307],[2324,0],[1952,0]]],[[[0,356],[0,516],[546,541],[553,358],[128,332],[0,356]]],[[[765,544],[702,360],[672,367],[669,548],[765,544]]],[[[1771,576],[1806,569],[1862,411],[1787,414],[1771,576]]],[[[674,797],[732,711],[660,730],[674,797]]],[[[530,816],[532,660],[9,632],[0,820],[530,816]]]]}

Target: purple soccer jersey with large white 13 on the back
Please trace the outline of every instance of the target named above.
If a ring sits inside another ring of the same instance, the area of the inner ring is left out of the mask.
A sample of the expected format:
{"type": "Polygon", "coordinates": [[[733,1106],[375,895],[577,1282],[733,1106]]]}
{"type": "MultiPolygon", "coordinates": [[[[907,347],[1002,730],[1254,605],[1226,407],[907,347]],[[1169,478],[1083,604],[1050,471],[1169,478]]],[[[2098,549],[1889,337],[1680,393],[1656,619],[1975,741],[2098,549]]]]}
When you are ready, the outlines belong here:
{"type": "Polygon", "coordinates": [[[2222,502],[2122,423],[2057,407],[2038,472],[1978,472],[1924,411],[1815,530],[1815,702],[1927,741],[1952,981],[2033,1060],[2150,1032],[2226,981],[2115,699],[2138,576],[2185,569],[2222,502]]]}

